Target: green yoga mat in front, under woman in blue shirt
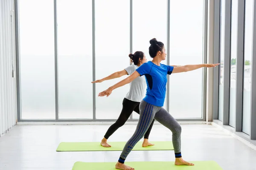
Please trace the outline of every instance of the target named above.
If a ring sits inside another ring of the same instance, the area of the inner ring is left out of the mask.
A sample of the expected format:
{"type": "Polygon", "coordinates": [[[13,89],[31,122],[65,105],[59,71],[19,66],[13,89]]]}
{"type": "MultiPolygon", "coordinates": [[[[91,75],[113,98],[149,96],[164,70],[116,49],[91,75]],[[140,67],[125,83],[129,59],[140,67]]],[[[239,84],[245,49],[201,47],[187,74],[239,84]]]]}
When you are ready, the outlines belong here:
{"type": "MultiPolygon", "coordinates": [[[[135,170],[223,170],[215,161],[191,161],[195,166],[176,166],[174,162],[126,162],[135,170]]],[[[76,162],[72,170],[116,170],[116,162],[76,162]]]]}

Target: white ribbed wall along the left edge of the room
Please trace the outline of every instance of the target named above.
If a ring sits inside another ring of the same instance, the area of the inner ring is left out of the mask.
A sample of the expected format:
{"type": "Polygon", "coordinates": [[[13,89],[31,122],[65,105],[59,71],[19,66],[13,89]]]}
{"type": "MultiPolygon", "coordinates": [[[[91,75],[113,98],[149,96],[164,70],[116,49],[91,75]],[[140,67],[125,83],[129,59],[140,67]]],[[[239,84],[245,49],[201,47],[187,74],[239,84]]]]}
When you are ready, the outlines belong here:
{"type": "Polygon", "coordinates": [[[14,17],[14,0],[0,0],[0,136],[16,124],[17,116],[14,17]]]}

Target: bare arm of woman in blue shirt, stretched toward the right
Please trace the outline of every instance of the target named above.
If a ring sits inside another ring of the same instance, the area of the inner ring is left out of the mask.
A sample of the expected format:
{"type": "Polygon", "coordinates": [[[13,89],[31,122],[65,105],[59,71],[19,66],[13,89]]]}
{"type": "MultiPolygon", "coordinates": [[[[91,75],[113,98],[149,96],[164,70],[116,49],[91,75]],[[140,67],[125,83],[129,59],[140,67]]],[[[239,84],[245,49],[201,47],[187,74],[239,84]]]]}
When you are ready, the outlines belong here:
{"type": "Polygon", "coordinates": [[[198,68],[203,68],[203,67],[216,67],[218,64],[197,64],[197,65],[183,65],[180,67],[174,67],[172,73],[181,73],[181,72],[187,72],[187,71],[193,71],[198,68]]]}

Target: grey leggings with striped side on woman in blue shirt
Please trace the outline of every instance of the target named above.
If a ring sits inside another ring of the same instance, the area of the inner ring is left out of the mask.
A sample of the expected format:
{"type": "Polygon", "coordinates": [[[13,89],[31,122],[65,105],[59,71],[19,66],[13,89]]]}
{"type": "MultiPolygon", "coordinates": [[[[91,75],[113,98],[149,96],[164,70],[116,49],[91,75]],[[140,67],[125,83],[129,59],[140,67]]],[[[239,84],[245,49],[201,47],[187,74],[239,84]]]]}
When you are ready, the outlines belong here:
{"type": "Polygon", "coordinates": [[[172,144],[175,153],[181,152],[181,126],[164,108],[151,105],[144,100],[140,102],[140,119],[133,136],[125,144],[121,158],[126,159],[133,147],[143,138],[153,119],[172,131],[172,144]]]}

